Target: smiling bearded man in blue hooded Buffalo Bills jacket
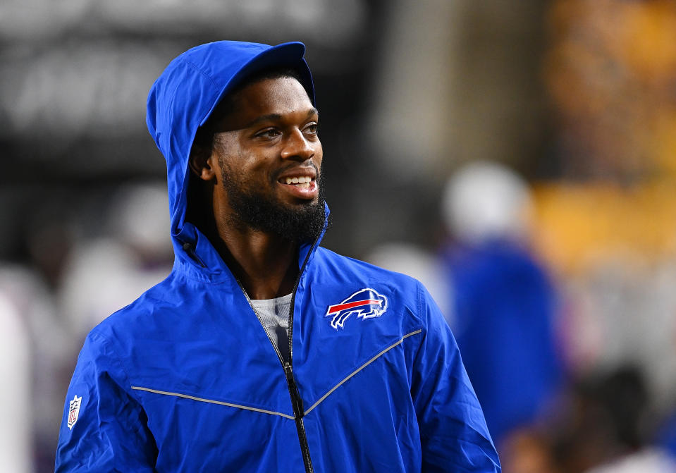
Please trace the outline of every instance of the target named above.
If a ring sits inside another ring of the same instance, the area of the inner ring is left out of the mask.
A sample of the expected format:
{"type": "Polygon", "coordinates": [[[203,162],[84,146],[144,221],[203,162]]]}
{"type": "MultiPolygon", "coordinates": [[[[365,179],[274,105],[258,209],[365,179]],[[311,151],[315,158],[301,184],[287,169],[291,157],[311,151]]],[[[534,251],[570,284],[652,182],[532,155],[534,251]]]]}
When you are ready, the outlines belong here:
{"type": "Polygon", "coordinates": [[[57,472],[499,471],[422,285],[319,247],[304,52],[204,44],[152,86],[176,262],[85,341],[57,472]]]}

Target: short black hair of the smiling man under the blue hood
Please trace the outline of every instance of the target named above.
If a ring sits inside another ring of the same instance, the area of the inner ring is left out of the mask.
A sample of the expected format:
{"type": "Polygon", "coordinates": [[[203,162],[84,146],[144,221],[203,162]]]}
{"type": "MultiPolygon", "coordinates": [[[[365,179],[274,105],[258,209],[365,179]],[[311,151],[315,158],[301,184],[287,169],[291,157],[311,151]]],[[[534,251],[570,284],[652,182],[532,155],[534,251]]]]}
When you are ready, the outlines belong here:
{"type": "MultiPolygon", "coordinates": [[[[200,147],[202,149],[213,148],[214,135],[219,131],[217,129],[218,124],[221,122],[223,117],[228,116],[230,113],[235,111],[235,96],[241,92],[242,89],[248,87],[249,85],[255,84],[256,82],[260,82],[261,80],[285,77],[297,80],[305,88],[305,84],[303,84],[301,79],[300,71],[289,66],[278,66],[259,70],[252,75],[247,76],[247,78],[235,85],[235,87],[233,87],[233,89],[221,99],[221,102],[216,105],[216,108],[211,112],[207,122],[197,129],[197,133],[195,133],[195,140],[192,142],[192,150],[194,150],[195,147],[200,147]]],[[[308,97],[310,97],[310,92],[307,91],[307,88],[305,89],[305,92],[307,92],[308,97]]],[[[192,150],[190,154],[192,154],[192,150]]]]}

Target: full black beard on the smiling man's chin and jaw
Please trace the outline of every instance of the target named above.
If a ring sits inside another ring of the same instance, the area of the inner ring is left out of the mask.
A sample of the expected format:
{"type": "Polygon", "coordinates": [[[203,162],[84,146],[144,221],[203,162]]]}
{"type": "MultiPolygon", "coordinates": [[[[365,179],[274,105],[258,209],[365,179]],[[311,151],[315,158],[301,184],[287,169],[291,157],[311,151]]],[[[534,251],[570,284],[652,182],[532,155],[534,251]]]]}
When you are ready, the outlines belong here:
{"type": "Polygon", "coordinates": [[[221,177],[233,209],[229,223],[235,228],[251,228],[294,242],[314,241],[321,234],[326,220],[321,174],[318,173],[317,177],[317,202],[293,207],[271,199],[257,190],[242,188],[238,184],[241,181],[233,178],[232,173],[226,171],[226,166],[221,165],[221,177]]]}

